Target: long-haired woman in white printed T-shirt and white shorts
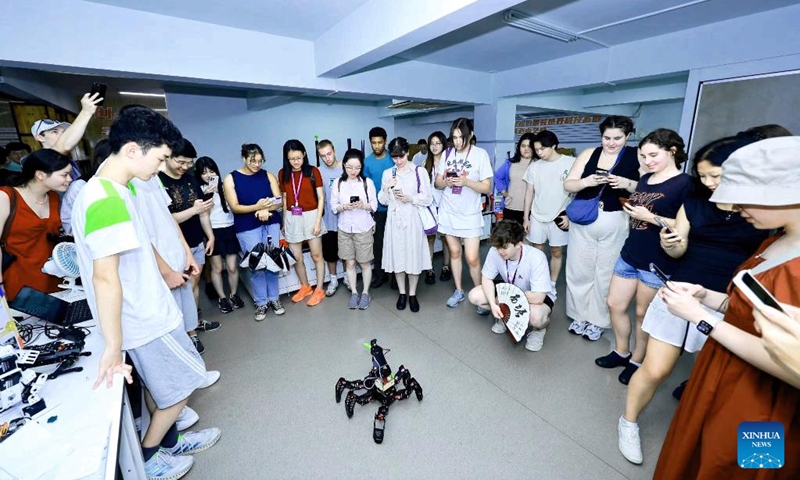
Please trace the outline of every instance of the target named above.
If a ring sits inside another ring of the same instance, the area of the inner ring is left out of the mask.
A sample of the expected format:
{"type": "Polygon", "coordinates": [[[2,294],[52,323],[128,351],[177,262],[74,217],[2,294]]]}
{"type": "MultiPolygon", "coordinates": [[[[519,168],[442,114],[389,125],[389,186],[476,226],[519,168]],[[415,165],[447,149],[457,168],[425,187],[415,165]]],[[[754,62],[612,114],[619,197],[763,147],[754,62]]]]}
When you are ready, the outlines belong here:
{"type": "Polygon", "coordinates": [[[483,234],[481,194],[492,191],[492,162],[486,150],[470,144],[474,134],[472,122],[458,118],[450,127],[453,148],[448,148],[436,172],[436,188],[443,190],[439,206],[439,231],[445,234],[450,247],[455,291],[447,306],[455,308],[466,300],[461,283],[461,241],[474,286],[481,284],[480,242],[483,234]]]}

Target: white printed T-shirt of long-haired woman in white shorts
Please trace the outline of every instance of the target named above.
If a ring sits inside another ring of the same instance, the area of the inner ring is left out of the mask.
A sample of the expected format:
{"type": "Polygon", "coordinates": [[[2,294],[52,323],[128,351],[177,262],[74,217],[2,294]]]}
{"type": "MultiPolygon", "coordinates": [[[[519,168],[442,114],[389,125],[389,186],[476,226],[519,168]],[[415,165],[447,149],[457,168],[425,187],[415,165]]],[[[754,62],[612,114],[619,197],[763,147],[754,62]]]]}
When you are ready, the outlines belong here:
{"type": "MultiPolygon", "coordinates": [[[[489,154],[481,147],[467,148],[463,152],[448,149],[442,153],[436,174],[445,175],[448,170],[455,170],[459,175],[466,171],[467,178],[476,182],[494,177],[489,154]]],[[[469,187],[462,187],[460,194],[453,193],[452,187],[445,187],[439,208],[458,219],[458,224],[450,225],[453,228],[483,228],[481,194],[469,187]]]]}

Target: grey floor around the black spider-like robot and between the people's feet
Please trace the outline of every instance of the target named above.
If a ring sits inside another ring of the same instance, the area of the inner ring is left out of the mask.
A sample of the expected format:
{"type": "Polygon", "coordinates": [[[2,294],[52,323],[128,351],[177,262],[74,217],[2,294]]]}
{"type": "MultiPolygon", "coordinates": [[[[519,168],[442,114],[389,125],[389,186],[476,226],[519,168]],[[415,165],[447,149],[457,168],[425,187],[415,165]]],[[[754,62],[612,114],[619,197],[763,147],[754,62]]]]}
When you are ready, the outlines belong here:
{"type": "Polygon", "coordinates": [[[313,308],[282,298],[286,314],[262,323],[249,305],[223,316],[203,299],[207,317],[223,322],[203,334],[206,364],[222,378],[189,403],[201,417],[195,428],[219,426],[223,436],[196,455],[186,478],[651,478],[677,407],[670,392],[692,359],[681,359],[640,418],[644,465],[628,463],[617,450],[621,369],[593,362],[613,337],[588,342],[569,334],[563,275],[558,287],[537,353],[493,334],[492,321],[469,304],[447,308],[451,283],[421,284],[418,314],[397,311],[388,285],[372,292],[366,311],[347,310],[340,289],[313,308]],[[340,376],[369,371],[362,343],[372,338],[425,394],[392,406],[382,445],[372,441],[376,405],[356,405],[348,419],[344,403],[334,401],[340,376]]]}

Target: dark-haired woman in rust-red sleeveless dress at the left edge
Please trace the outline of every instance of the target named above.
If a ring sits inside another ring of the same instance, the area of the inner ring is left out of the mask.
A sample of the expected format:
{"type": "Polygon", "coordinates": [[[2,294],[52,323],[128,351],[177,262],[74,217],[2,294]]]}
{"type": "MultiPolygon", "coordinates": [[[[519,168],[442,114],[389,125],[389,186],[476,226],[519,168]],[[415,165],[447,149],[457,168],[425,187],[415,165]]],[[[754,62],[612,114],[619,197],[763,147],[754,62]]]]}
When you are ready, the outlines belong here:
{"type": "Polygon", "coordinates": [[[0,188],[0,231],[8,221],[12,198],[16,200],[16,212],[2,246],[17,257],[2,268],[0,284],[8,301],[25,285],[45,293],[58,291],[61,279],[42,273],[42,266],[55,246],[47,234],[57,234],[61,228],[58,194],[72,182],[71,172],[69,158],[55,150],[38,150],[24,159],[18,186],[0,188]]]}

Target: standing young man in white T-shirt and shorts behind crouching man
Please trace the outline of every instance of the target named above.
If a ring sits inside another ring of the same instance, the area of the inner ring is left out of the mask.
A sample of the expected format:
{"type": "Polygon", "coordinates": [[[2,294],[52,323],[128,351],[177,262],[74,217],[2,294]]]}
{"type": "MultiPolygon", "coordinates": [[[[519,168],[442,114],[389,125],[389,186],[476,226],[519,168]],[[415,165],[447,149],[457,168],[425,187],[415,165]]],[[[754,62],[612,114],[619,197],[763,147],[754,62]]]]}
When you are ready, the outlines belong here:
{"type": "Polygon", "coordinates": [[[536,134],[533,148],[539,160],[528,167],[523,177],[528,185],[525,191],[524,227],[528,241],[534,247],[544,251],[545,244],[550,244],[550,281],[555,292],[564,263],[564,247],[569,243],[569,219],[564,209],[572,200],[572,195],[564,190],[563,184],[575,163],[575,157],[556,151],[558,137],[549,130],[536,134]]]}

